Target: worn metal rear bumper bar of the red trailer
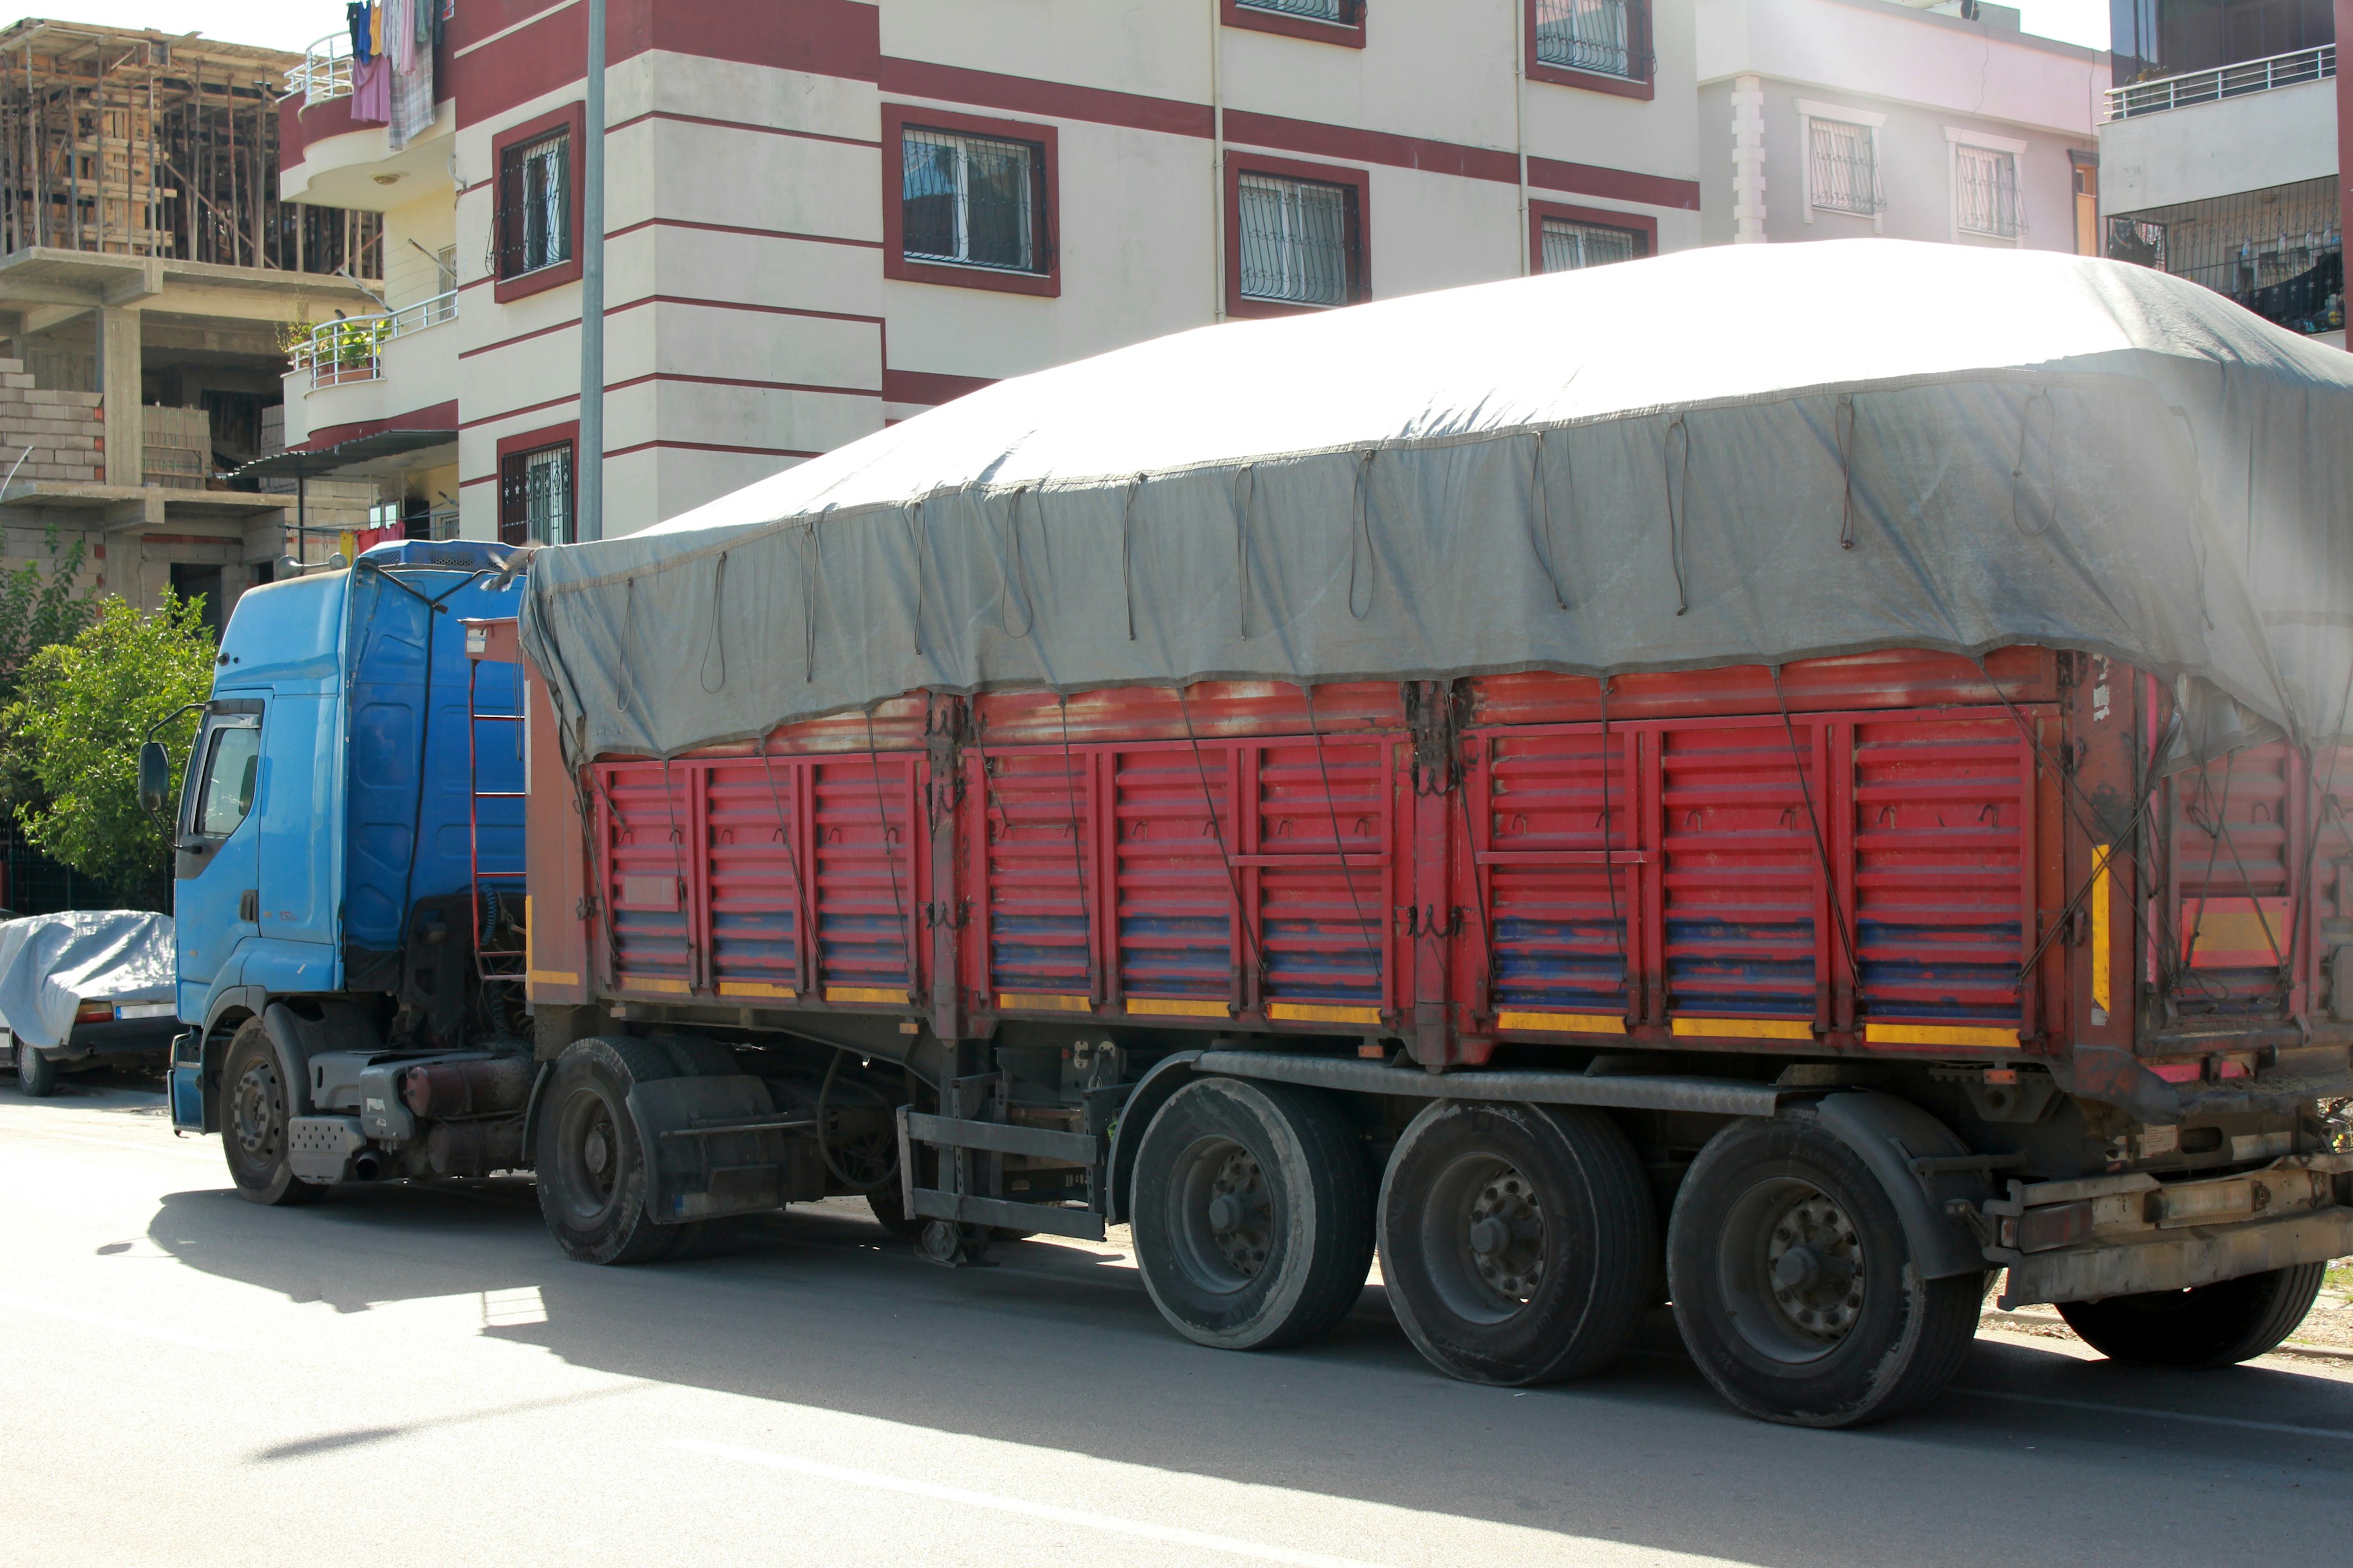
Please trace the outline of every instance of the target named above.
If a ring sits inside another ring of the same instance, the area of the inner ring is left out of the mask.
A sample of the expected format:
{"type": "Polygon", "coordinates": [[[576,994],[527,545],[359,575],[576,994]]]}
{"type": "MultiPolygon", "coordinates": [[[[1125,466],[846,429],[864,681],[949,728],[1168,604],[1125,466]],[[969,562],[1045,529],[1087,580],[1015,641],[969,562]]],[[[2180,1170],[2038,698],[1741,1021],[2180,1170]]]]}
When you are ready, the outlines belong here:
{"type": "Polygon", "coordinates": [[[2009,1312],[2038,1302],[2186,1291],[2346,1255],[2353,1255],[2353,1208],[2337,1204],[2271,1220],[2198,1225],[2028,1253],[2009,1262],[2000,1307],[2009,1312]]]}

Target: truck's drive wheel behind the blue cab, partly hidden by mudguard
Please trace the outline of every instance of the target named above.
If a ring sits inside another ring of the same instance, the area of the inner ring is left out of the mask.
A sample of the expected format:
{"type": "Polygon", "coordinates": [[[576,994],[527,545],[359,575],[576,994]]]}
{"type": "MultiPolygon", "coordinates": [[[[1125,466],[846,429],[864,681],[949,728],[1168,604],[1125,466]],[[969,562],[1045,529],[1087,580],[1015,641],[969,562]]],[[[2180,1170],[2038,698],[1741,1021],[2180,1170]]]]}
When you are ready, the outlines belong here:
{"type": "Polygon", "coordinates": [[[645,1150],[628,1117],[635,1084],[678,1077],[666,1051],[621,1037],[565,1046],[539,1107],[539,1213],[567,1258],[656,1262],[696,1239],[694,1225],[654,1225],[645,1150]]]}

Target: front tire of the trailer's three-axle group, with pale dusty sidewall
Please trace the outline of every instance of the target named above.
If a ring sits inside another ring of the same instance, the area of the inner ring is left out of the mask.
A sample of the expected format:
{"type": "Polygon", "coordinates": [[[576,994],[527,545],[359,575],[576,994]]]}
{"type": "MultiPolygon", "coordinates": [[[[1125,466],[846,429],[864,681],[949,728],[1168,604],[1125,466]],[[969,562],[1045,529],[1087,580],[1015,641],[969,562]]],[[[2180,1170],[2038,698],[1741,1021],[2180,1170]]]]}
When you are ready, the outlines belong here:
{"type": "Polygon", "coordinates": [[[1320,1340],[1372,1272],[1372,1166],[1327,1098],[1195,1079],[1136,1150],[1136,1267],[1160,1316],[1217,1349],[1320,1340]]]}

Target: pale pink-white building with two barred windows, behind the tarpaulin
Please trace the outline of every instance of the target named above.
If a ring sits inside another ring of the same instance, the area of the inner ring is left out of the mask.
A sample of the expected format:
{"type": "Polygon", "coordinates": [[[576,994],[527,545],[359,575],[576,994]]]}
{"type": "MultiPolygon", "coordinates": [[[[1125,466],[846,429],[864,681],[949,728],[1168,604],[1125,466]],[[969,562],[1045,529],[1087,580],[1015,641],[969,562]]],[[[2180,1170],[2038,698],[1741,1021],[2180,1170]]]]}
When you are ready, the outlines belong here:
{"type": "Polygon", "coordinates": [[[2005,5],[1697,0],[1708,244],[2097,254],[2099,52],[2005,5]]]}

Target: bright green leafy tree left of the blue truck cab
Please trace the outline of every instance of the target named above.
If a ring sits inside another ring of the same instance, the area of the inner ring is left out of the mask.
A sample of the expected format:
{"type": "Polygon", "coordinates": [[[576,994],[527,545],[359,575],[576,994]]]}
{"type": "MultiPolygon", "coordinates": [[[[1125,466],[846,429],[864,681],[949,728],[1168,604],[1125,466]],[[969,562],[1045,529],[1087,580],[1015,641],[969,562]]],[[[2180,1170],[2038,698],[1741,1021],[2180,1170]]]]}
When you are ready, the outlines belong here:
{"type": "MultiPolygon", "coordinates": [[[[212,691],[212,654],[202,597],[167,592],[148,616],[108,595],[78,637],[24,663],[0,729],[38,785],[16,820],[42,853],[125,898],[155,886],[169,832],[139,806],[139,743],[212,691]]],[[[186,715],[155,736],[174,757],[174,792],[193,729],[186,715]]]]}

